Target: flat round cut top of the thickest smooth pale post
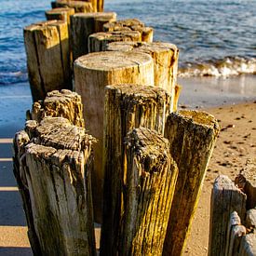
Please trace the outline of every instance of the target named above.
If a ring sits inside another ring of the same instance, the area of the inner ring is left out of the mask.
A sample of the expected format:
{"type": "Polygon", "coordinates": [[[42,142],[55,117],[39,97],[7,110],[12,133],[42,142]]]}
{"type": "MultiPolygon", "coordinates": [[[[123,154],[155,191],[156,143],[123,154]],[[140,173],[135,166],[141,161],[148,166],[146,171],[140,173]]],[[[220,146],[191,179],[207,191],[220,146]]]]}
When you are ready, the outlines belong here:
{"type": "Polygon", "coordinates": [[[89,70],[112,71],[152,62],[150,55],[141,52],[102,51],[84,55],[74,61],[74,66],[89,70]]]}

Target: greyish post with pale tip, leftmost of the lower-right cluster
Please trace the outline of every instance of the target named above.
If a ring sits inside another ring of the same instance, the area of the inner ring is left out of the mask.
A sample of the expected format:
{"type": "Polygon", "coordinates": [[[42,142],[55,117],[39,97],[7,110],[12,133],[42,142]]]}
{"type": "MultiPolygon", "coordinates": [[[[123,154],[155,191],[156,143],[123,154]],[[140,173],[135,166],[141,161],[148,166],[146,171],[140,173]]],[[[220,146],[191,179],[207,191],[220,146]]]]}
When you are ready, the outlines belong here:
{"type": "Polygon", "coordinates": [[[225,255],[230,214],[236,210],[245,220],[246,195],[227,176],[219,176],[211,194],[209,255],[225,255]]]}

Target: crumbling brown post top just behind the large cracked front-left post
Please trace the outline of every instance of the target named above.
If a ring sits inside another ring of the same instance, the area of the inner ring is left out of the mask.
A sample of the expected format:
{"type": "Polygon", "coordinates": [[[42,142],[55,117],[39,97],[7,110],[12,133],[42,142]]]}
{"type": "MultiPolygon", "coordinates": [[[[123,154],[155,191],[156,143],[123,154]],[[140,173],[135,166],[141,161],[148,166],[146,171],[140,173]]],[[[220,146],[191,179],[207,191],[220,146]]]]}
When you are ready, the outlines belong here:
{"type": "Polygon", "coordinates": [[[40,123],[45,116],[64,117],[74,126],[85,127],[81,96],[68,89],[53,90],[44,101],[34,102],[30,119],[40,123]]]}

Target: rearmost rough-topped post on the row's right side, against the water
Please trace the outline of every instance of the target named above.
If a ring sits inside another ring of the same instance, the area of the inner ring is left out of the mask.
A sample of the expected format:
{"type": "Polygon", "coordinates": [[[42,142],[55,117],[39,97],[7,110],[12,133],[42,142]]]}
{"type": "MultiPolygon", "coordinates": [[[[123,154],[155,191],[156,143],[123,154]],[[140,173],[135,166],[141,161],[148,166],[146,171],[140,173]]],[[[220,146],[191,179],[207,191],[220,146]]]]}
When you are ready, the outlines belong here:
{"type": "Polygon", "coordinates": [[[138,31],[141,34],[141,41],[151,43],[153,42],[154,29],[152,27],[145,27],[141,20],[127,19],[109,22],[103,26],[104,32],[115,31],[138,31]]]}

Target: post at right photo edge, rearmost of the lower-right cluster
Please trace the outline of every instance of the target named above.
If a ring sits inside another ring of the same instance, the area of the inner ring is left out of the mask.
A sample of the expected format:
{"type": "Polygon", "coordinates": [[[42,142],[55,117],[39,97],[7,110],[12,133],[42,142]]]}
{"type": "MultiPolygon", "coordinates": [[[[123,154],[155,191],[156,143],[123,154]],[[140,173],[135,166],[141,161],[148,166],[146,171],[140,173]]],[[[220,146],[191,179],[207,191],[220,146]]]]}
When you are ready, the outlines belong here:
{"type": "Polygon", "coordinates": [[[249,159],[245,168],[236,177],[236,186],[247,195],[247,209],[256,207],[256,158],[249,159]]]}

